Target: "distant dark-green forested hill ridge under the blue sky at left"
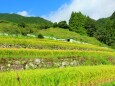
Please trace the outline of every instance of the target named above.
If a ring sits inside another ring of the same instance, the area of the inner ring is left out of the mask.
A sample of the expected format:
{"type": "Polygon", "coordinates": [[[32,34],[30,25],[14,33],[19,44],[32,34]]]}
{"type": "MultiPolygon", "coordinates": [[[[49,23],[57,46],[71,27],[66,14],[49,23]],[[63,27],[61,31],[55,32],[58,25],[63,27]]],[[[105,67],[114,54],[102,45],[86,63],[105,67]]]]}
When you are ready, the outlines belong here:
{"type": "Polygon", "coordinates": [[[18,14],[0,13],[0,22],[7,21],[13,23],[29,23],[29,24],[52,24],[50,21],[41,17],[24,17],[18,14]]]}

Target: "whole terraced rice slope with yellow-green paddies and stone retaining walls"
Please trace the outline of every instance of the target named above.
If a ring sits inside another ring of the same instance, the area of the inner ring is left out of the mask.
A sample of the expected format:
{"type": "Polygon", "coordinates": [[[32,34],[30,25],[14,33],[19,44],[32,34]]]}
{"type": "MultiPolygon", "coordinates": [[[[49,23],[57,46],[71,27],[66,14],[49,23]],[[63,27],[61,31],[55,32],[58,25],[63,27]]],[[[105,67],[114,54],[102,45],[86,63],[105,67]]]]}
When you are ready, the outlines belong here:
{"type": "Polygon", "coordinates": [[[114,65],[108,47],[0,37],[0,86],[99,86],[115,81],[114,65]]]}

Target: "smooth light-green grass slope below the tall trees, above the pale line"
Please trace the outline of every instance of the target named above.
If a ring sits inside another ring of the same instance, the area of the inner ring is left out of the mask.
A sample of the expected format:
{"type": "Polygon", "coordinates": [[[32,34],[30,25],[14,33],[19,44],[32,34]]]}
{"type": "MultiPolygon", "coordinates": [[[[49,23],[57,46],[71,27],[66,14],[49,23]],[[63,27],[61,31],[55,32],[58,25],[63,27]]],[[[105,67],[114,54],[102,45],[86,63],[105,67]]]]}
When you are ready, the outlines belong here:
{"type": "Polygon", "coordinates": [[[62,29],[62,28],[49,28],[45,30],[40,30],[38,33],[41,33],[45,36],[50,36],[50,37],[56,37],[56,38],[72,38],[77,41],[81,42],[86,42],[94,45],[99,45],[99,46],[106,46],[105,44],[102,44],[99,42],[97,39],[93,37],[88,37],[84,35],[80,35],[76,32],[69,31],[68,29],[62,29]]]}

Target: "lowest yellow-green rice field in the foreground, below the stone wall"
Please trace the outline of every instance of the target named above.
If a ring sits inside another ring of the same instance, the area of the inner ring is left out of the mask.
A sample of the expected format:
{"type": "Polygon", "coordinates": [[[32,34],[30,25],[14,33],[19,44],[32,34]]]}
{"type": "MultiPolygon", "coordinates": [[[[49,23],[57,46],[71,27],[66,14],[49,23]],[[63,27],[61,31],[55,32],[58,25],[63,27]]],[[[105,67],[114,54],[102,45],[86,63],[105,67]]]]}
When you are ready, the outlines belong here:
{"type": "Polygon", "coordinates": [[[0,73],[0,86],[98,86],[115,80],[115,66],[82,66],[0,73]]]}

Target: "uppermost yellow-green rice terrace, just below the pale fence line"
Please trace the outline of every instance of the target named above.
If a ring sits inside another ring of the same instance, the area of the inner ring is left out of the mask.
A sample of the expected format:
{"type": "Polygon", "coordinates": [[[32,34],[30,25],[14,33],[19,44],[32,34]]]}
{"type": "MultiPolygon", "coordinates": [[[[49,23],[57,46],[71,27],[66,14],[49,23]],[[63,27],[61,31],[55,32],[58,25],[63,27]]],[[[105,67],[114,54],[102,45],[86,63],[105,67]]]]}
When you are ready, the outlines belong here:
{"type": "Polygon", "coordinates": [[[107,47],[100,47],[92,44],[70,43],[48,39],[37,38],[13,38],[0,37],[1,48],[31,48],[31,49],[50,49],[50,50],[97,50],[114,51],[107,47]]]}

